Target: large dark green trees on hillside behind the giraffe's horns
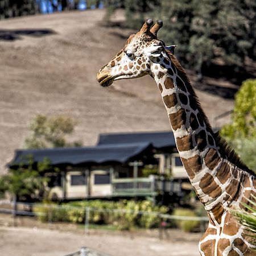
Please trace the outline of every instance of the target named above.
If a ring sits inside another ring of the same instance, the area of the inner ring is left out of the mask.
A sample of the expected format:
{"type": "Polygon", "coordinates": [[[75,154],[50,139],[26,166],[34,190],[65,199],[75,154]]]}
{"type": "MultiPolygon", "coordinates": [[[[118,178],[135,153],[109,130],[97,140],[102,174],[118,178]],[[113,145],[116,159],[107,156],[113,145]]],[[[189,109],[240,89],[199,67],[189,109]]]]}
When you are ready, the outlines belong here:
{"type": "Polygon", "coordinates": [[[210,64],[241,68],[255,58],[256,3],[231,0],[163,0],[155,18],[164,20],[159,37],[177,44],[177,54],[201,74],[210,64]]]}

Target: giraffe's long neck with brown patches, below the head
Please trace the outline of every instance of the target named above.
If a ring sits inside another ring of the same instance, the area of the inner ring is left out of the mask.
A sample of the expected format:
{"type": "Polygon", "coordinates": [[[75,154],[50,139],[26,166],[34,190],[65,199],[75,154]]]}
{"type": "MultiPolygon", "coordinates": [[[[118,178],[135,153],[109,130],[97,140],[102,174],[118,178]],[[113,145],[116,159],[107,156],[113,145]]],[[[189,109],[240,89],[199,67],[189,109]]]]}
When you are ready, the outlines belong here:
{"type": "Polygon", "coordinates": [[[221,181],[214,177],[220,168],[222,175],[230,177],[228,163],[220,156],[208,119],[183,68],[163,60],[153,64],[151,72],[162,94],[183,166],[205,209],[212,210],[209,205],[216,206],[222,194],[221,181]]]}

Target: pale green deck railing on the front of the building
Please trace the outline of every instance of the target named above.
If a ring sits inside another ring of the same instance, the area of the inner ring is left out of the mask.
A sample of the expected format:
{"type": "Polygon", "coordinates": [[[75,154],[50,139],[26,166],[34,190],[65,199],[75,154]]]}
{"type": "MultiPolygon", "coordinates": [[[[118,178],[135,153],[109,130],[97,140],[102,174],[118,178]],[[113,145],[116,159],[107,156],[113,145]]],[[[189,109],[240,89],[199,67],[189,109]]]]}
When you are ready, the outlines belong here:
{"type": "Polygon", "coordinates": [[[115,196],[144,196],[154,195],[155,193],[155,179],[154,176],[139,177],[137,179],[114,179],[112,181],[113,195],[115,196]]]}

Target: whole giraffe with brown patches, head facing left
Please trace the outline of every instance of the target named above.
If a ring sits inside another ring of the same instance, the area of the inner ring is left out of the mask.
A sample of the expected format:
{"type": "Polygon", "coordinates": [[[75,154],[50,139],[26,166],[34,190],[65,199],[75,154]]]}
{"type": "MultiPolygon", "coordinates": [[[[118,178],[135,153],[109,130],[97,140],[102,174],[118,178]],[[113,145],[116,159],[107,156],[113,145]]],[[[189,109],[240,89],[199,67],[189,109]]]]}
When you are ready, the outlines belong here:
{"type": "Polygon", "coordinates": [[[199,242],[205,256],[251,256],[254,247],[245,238],[245,227],[237,224],[230,207],[241,207],[245,197],[256,195],[256,179],[217,134],[213,133],[190,81],[174,56],[175,46],[157,38],[163,26],[146,20],[141,30],[100,69],[102,86],[113,81],[150,75],[158,85],[166,107],[177,150],[192,187],[209,217],[208,228],[199,242]]]}

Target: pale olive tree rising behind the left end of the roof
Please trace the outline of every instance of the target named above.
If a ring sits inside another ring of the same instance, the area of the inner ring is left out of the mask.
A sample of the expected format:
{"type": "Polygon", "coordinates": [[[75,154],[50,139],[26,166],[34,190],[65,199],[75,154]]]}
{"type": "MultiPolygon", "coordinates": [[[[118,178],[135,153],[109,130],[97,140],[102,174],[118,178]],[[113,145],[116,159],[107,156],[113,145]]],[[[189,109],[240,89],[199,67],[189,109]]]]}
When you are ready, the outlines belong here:
{"type": "Polygon", "coordinates": [[[81,141],[67,142],[66,135],[72,134],[76,122],[68,115],[47,117],[37,115],[30,123],[31,135],[25,139],[26,148],[77,147],[81,141]]]}

